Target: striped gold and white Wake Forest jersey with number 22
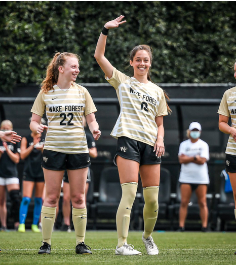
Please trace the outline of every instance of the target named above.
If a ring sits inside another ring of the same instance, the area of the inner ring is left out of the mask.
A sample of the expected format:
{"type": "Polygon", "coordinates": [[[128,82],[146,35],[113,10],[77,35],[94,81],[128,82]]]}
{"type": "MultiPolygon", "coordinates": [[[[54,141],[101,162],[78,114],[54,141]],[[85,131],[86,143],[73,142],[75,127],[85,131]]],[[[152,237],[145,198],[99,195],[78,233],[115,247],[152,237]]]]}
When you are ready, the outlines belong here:
{"type": "Polygon", "coordinates": [[[76,154],[89,153],[83,115],[97,111],[89,91],[78,84],[69,89],[57,85],[48,93],[38,93],[32,113],[43,116],[46,111],[48,131],[44,149],[76,154]]]}

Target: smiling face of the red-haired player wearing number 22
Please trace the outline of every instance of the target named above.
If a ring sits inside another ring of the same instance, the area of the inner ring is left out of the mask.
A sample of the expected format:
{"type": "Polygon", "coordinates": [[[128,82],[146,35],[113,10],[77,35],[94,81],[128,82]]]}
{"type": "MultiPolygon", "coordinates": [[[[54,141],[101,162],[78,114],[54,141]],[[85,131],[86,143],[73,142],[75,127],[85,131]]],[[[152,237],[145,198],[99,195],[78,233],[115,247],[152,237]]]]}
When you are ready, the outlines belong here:
{"type": "Polygon", "coordinates": [[[78,73],[80,73],[80,65],[78,59],[75,57],[66,57],[64,65],[58,68],[59,75],[63,75],[63,78],[68,82],[75,82],[78,73]]]}

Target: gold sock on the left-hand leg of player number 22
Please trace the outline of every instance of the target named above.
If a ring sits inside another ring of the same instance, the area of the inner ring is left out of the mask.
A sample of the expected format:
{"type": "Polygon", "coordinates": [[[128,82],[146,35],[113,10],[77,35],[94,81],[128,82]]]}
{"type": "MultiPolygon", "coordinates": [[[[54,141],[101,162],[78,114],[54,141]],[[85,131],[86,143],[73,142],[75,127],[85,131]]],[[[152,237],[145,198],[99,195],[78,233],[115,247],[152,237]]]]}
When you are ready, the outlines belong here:
{"type": "Polygon", "coordinates": [[[57,207],[42,206],[41,211],[43,242],[47,242],[50,245],[53,225],[56,219],[56,209],[57,207]]]}

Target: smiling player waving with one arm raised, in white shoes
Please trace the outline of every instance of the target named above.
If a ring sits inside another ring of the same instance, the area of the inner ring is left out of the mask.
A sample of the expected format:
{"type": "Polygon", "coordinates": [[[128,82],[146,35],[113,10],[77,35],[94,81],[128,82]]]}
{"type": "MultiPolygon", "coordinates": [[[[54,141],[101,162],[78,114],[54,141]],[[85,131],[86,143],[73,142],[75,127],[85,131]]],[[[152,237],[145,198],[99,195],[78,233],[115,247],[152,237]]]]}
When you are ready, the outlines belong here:
{"type": "Polygon", "coordinates": [[[118,139],[114,162],[117,164],[122,186],[122,198],[116,213],[118,244],[116,255],[141,255],[127,244],[130,213],[140,173],[145,205],[142,241],[147,253],[157,255],[158,247],[151,233],[158,216],[158,193],[161,157],[165,153],[163,116],[167,103],[162,88],[150,81],[151,49],[147,45],[135,47],[130,54],[134,76],[116,70],[104,56],[108,29],[125,23],[124,16],[107,22],[98,39],[95,58],[106,80],[115,88],[121,113],[111,132],[118,139]]]}

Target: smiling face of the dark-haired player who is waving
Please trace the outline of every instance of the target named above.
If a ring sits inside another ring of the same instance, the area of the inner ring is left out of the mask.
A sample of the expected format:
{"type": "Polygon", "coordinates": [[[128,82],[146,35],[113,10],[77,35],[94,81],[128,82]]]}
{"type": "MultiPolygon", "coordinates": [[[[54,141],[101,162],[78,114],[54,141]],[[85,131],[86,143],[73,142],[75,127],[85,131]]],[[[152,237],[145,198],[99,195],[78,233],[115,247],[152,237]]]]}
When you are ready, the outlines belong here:
{"type": "Polygon", "coordinates": [[[151,66],[151,59],[147,51],[138,50],[134,55],[133,61],[130,60],[130,65],[134,68],[134,77],[147,76],[151,66]]]}

